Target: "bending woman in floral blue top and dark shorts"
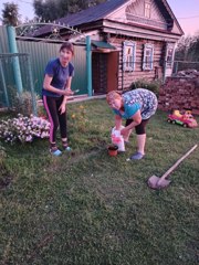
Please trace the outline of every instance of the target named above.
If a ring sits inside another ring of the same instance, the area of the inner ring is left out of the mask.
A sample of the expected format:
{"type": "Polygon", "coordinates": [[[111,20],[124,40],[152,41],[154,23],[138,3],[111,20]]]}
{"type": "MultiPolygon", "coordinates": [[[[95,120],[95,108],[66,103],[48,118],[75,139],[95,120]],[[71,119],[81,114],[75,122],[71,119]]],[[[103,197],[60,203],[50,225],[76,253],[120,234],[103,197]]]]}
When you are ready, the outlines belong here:
{"type": "Polygon", "coordinates": [[[123,95],[116,91],[109,92],[106,100],[115,113],[115,127],[121,129],[122,118],[126,119],[126,127],[121,130],[125,141],[128,141],[132,130],[137,135],[137,151],[130,159],[142,159],[145,156],[146,125],[156,113],[157,97],[147,89],[137,88],[123,95]]]}

